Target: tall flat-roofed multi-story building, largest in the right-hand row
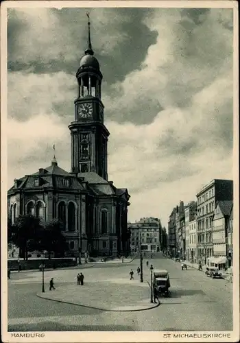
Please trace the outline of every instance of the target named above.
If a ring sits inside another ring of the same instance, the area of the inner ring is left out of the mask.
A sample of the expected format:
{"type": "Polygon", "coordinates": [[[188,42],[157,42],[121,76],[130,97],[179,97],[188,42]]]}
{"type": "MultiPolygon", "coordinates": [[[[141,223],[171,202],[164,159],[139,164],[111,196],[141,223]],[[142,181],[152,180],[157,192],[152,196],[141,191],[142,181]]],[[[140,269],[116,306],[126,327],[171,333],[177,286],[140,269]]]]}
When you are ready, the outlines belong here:
{"type": "Polygon", "coordinates": [[[197,193],[197,260],[213,256],[213,213],[219,200],[232,200],[232,180],[214,179],[197,193]]]}

